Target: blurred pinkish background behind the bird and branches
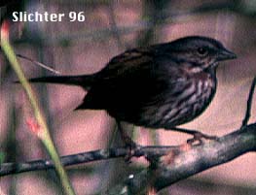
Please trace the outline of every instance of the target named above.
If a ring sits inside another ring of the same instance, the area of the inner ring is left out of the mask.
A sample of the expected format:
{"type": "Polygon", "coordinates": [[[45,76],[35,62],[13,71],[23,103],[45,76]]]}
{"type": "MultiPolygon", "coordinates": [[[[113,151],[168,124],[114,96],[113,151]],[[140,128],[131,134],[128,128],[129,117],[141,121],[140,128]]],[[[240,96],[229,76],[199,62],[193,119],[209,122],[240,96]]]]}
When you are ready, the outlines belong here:
{"type": "MultiPolygon", "coordinates": [[[[255,0],[23,0],[0,4],[1,19],[14,11],[39,13],[84,12],[85,21],[13,22],[11,40],[17,53],[43,62],[62,75],[90,74],[120,52],[138,46],[169,42],[187,35],[216,38],[238,59],[219,66],[218,89],[210,107],[183,127],[222,136],[239,128],[251,81],[256,75],[255,0]]],[[[53,75],[23,59],[27,78],[53,75]]],[[[0,159],[24,162],[49,158],[26,121],[31,108],[13,70],[0,52],[0,159]]],[[[86,94],[76,86],[34,84],[60,155],[118,146],[114,120],[104,111],[73,112],[86,94]]],[[[136,94],[134,94],[136,95],[136,94]]],[[[102,97],[103,98],[103,97],[102,97]]],[[[254,98],[255,99],[255,98],[254,98]]],[[[255,100],[251,122],[256,120],[255,100]]],[[[190,137],[165,130],[135,128],[140,145],[181,145],[190,137]]],[[[207,170],[162,190],[171,195],[255,194],[256,154],[207,170]]],[[[93,162],[68,168],[77,194],[104,190],[145,168],[143,159],[93,162]]],[[[3,194],[61,194],[55,172],[40,171],[2,177],[3,194]]]]}

